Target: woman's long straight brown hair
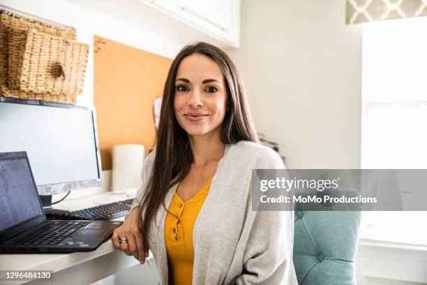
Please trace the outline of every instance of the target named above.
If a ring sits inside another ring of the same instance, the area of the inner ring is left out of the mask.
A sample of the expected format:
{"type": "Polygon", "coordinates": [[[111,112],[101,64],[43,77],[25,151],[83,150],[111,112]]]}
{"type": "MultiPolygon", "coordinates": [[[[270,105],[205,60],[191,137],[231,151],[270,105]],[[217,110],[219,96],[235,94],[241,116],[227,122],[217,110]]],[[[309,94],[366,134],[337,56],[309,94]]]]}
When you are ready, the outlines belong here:
{"type": "Polygon", "coordinates": [[[188,134],[179,126],[174,116],[175,79],[178,66],[182,59],[191,54],[203,54],[213,59],[223,72],[227,86],[227,112],[225,112],[221,125],[220,140],[224,144],[232,144],[241,140],[257,142],[257,134],[246,102],[244,85],[230,57],[223,50],[209,43],[195,43],[183,47],[172,61],[172,66],[167,74],[156,135],[156,156],[137,216],[138,226],[142,232],[142,242],[146,248],[148,248],[150,224],[156,217],[158,207],[163,204],[167,210],[165,205],[167,191],[186,177],[190,164],[193,162],[188,134]]]}

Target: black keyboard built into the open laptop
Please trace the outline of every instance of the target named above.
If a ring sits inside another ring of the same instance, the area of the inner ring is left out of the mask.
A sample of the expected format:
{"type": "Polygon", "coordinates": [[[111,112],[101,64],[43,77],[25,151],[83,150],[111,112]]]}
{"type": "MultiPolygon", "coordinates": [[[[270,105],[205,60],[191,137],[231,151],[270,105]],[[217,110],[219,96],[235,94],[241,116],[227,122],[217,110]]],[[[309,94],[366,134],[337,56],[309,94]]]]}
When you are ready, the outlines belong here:
{"type": "Polygon", "coordinates": [[[91,221],[47,221],[45,226],[25,235],[12,244],[59,244],[62,240],[75,235],[80,228],[91,221]]]}

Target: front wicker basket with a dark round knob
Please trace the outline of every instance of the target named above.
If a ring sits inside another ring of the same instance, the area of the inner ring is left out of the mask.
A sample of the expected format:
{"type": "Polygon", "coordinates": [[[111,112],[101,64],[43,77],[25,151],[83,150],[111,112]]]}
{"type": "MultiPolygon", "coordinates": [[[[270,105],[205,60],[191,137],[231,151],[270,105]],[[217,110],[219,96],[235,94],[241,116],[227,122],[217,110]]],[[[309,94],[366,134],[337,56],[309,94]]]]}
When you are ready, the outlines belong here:
{"type": "Polygon", "coordinates": [[[80,94],[89,45],[31,29],[9,29],[9,89],[80,94]]]}

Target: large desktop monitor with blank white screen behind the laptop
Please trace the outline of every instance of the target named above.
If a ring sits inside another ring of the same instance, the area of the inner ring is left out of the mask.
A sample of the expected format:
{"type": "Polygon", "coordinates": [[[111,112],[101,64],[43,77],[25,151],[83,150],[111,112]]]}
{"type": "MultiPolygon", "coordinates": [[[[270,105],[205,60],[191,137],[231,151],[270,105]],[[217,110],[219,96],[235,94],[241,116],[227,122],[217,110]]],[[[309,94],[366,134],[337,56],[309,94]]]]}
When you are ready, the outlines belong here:
{"type": "Polygon", "coordinates": [[[102,185],[94,110],[0,96],[0,152],[22,151],[40,195],[102,185]]]}

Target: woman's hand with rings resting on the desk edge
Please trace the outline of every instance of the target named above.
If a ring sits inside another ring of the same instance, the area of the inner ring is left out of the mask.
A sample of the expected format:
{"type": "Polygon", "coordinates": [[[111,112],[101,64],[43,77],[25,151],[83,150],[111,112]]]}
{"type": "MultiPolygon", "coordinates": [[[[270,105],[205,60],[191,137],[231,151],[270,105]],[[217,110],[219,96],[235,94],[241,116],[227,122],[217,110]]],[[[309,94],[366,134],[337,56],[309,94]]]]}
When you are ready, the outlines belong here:
{"type": "Polygon", "coordinates": [[[125,221],[119,228],[116,228],[112,235],[112,242],[116,249],[123,251],[128,256],[133,255],[145,263],[145,258],[149,255],[149,248],[142,244],[142,235],[138,228],[137,214],[139,207],[135,207],[126,217],[125,221]],[[126,238],[128,242],[119,242],[119,239],[126,238]]]}

